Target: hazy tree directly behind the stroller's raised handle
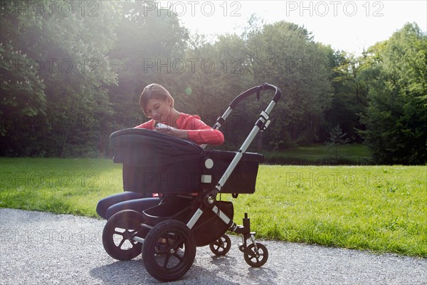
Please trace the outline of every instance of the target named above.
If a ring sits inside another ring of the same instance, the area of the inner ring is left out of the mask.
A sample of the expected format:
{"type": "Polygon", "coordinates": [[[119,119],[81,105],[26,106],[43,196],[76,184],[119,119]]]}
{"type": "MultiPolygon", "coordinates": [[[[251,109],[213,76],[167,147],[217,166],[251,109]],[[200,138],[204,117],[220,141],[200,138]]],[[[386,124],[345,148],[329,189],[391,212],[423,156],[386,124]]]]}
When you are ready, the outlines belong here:
{"type": "MultiPolygon", "coordinates": [[[[184,110],[201,115],[205,123],[213,125],[236,95],[253,87],[244,48],[243,39],[236,34],[218,36],[215,42],[200,35],[191,38],[186,58],[194,58],[197,65],[194,72],[181,76],[181,81],[191,88],[191,93],[183,93],[180,98],[184,110]]],[[[241,103],[221,127],[228,146],[241,144],[247,135],[246,125],[252,125],[246,123],[248,115],[243,110],[241,103]]]]}

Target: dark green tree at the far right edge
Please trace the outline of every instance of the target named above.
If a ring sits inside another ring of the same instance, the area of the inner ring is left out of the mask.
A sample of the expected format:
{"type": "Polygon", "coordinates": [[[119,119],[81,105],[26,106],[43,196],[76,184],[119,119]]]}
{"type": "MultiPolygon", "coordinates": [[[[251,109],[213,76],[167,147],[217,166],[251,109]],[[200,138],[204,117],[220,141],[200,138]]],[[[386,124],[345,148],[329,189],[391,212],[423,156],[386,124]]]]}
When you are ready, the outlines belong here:
{"type": "Polygon", "coordinates": [[[361,131],[378,163],[427,162],[427,36],[416,24],[368,52],[381,63],[369,82],[361,131]]]}

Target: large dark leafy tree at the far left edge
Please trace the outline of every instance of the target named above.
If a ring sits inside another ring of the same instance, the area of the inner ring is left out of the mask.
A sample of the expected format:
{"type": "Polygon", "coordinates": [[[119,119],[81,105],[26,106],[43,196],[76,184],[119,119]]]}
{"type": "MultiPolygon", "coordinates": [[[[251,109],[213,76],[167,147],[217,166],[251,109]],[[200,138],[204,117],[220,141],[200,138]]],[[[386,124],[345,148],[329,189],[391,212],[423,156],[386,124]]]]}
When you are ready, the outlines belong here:
{"type": "Polygon", "coordinates": [[[2,2],[1,155],[83,155],[102,140],[120,7],[90,3],[2,2]]]}

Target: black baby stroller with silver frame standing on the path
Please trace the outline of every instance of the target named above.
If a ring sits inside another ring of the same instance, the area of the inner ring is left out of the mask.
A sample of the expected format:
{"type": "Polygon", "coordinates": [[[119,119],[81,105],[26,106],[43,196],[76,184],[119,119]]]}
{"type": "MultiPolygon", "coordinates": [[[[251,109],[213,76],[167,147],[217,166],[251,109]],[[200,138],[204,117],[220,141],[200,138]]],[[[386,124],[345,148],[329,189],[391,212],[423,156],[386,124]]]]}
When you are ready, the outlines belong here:
{"type": "Polygon", "coordinates": [[[157,206],[136,212],[125,209],[108,219],[102,233],[105,251],[118,260],[142,253],[147,272],[160,281],[173,281],[186,274],[194,262],[196,247],[209,245],[221,256],[231,248],[227,231],[242,235],[238,249],[246,262],[260,267],[268,259],[267,248],[255,241],[248,214],[243,225],[233,222],[232,202],[217,195],[255,192],[258,165],[263,155],[246,152],[259,131],[266,130],[269,114],[280,98],[280,89],[264,83],[238,95],[213,128],[220,128],[233,108],[260,91],[274,90],[273,99],[260,113],[251,133],[236,151],[205,150],[154,130],[125,129],[112,133],[114,162],[122,163],[126,191],[162,195],[157,206]]]}

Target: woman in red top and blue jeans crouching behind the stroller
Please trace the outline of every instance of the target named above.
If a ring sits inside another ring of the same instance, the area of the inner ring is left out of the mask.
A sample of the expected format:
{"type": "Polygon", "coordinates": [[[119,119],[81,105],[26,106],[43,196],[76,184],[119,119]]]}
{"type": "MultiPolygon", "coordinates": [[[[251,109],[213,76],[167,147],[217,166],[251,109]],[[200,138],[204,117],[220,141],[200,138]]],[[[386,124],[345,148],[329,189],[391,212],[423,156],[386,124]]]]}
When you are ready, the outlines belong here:
{"type": "MultiPolygon", "coordinates": [[[[191,140],[197,144],[221,145],[224,141],[223,134],[219,130],[206,125],[198,115],[180,113],[174,108],[174,98],[169,91],[153,83],[142,90],[139,97],[139,105],[142,112],[149,120],[137,125],[135,128],[157,130],[176,138],[191,140]]],[[[113,214],[122,209],[134,209],[142,212],[144,209],[159,204],[158,197],[142,195],[136,192],[122,192],[101,199],[96,211],[105,219],[110,219],[113,214]]]]}

